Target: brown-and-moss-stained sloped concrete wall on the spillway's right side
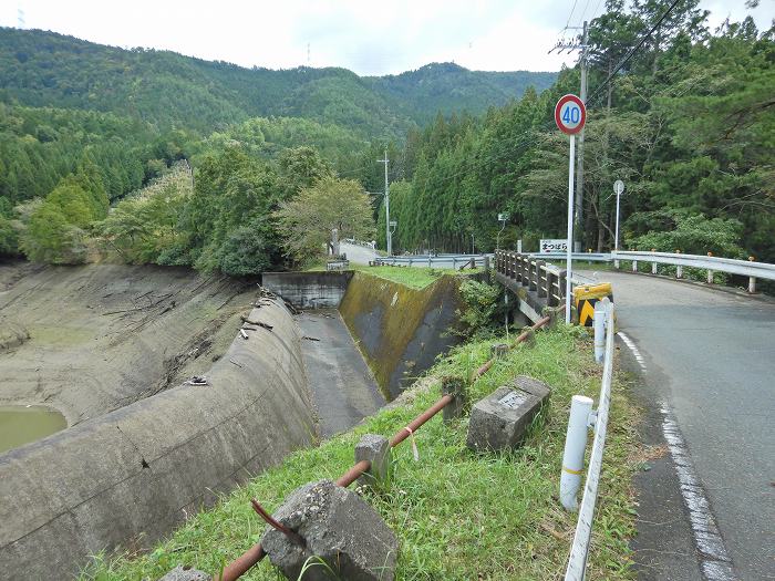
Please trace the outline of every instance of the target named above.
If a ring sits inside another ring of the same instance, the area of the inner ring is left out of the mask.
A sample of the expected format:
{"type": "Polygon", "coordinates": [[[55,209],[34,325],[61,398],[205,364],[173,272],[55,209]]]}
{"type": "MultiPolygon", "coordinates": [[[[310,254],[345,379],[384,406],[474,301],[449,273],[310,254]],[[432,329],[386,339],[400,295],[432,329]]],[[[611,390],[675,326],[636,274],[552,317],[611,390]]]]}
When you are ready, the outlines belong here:
{"type": "Polygon", "coordinates": [[[463,308],[459,278],[411,289],[355,272],[339,305],[382,391],[396,397],[436,356],[459,343],[451,329],[463,308]]]}

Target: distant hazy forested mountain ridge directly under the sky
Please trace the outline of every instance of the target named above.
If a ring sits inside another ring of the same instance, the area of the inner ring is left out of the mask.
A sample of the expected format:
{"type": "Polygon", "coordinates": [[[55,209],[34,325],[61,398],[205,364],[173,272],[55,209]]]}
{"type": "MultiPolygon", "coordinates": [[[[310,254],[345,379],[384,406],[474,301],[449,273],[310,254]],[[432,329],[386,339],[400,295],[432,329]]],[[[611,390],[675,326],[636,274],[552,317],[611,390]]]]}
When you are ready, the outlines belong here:
{"type": "Polygon", "coordinates": [[[104,46],[0,28],[0,100],[112,112],[159,127],[213,131],[256,116],[334,123],[362,136],[402,137],[437,111],[478,114],[548,87],[556,73],[485,73],[452,64],[388,77],[344,69],[275,71],[168,51],[104,46]]]}

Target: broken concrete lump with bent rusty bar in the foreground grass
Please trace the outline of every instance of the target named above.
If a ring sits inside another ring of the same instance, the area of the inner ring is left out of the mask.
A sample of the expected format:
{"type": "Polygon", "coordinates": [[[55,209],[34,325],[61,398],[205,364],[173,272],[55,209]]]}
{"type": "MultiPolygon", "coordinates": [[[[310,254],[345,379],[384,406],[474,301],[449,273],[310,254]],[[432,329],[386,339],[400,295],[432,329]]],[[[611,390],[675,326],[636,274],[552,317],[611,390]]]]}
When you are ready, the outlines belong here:
{"type": "MultiPolygon", "coordinates": [[[[355,492],[331,480],[297,488],[273,515],[304,539],[293,543],[269,528],[261,539],[272,564],[292,580],[300,579],[308,559],[317,557],[327,567],[309,568],[302,581],[393,581],[399,540],[380,515],[355,492]]],[[[314,562],[314,559],[311,561],[314,562]]]]}

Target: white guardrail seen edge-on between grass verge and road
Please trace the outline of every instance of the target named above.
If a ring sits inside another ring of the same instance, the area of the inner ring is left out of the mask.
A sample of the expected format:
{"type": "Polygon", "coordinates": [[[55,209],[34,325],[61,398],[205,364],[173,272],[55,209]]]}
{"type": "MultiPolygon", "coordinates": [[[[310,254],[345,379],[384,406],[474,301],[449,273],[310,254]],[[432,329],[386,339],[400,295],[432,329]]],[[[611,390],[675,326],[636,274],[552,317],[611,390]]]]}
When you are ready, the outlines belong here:
{"type": "MultiPolygon", "coordinates": [[[[598,402],[598,411],[595,414],[595,440],[592,442],[592,452],[589,457],[589,470],[587,471],[587,480],[585,483],[583,497],[579,508],[578,522],[576,525],[576,535],[574,543],[570,547],[570,557],[568,559],[568,568],[565,573],[565,581],[583,581],[585,570],[587,566],[587,553],[589,552],[589,543],[592,535],[592,518],[595,516],[595,502],[598,497],[598,484],[600,481],[600,470],[602,468],[602,453],[606,447],[606,432],[608,428],[608,411],[611,405],[611,377],[613,374],[613,304],[608,298],[599,301],[601,309],[606,313],[606,352],[603,356],[602,383],[600,386],[600,400],[598,402]]],[[[574,396],[574,400],[579,396],[574,396]]],[[[571,408],[572,413],[572,408],[571,408]]],[[[570,426],[569,426],[570,427],[570,426]]],[[[585,426],[586,429],[586,426],[585,426]]],[[[568,433],[570,437],[570,432],[568,433]]],[[[566,450],[568,440],[566,439],[566,450]]],[[[581,458],[583,458],[583,449],[581,458]]],[[[561,479],[566,476],[564,470],[561,479]]],[[[580,471],[580,470],[579,470],[580,471]]],[[[579,475],[580,478],[580,475],[579,475]]],[[[562,495],[560,494],[560,497],[562,495]]],[[[565,502],[564,502],[565,506],[565,502]]],[[[566,507],[567,508],[567,507],[566,507]]]]}

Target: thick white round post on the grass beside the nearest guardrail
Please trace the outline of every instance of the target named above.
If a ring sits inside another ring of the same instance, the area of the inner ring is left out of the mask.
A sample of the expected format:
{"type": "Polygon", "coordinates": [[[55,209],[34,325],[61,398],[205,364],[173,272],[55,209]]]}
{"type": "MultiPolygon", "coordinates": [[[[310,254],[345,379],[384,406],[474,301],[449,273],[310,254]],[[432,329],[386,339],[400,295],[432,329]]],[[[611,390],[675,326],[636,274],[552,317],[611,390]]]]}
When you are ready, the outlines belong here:
{"type": "Polygon", "coordinates": [[[570,401],[570,417],[568,433],[565,437],[562,453],[562,474],[560,475],[560,502],[566,510],[578,508],[576,499],[581,486],[583,474],[583,453],[587,449],[587,435],[592,398],[586,395],[574,395],[570,401]]]}

